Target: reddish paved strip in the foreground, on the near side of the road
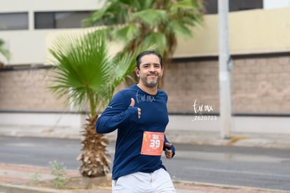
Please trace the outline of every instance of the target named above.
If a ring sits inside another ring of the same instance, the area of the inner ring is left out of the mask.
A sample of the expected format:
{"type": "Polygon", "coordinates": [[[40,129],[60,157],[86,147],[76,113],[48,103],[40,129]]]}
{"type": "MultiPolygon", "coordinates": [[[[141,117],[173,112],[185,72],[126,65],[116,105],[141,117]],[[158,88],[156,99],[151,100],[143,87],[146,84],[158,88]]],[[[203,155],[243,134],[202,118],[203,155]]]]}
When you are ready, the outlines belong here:
{"type": "MultiPolygon", "coordinates": [[[[5,193],[109,193],[111,186],[96,186],[95,189],[54,189],[43,187],[41,185],[31,185],[34,182],[34,175],[39,176],[40,180],[52,180],[55,176],[51,175],[49,168],[39,166],[26,166],[15,164],[0,164],[0,192],[5,193]]],[[[78,177],[78,171],[67,171],[68,177],[78,177]]],[[[251,187],[234,187],[228,185],[213,185],[196,182],[174,182],[174,187],[178,193],[274,193],[285,192],[270,189],[256,189],[251,187]]]]}

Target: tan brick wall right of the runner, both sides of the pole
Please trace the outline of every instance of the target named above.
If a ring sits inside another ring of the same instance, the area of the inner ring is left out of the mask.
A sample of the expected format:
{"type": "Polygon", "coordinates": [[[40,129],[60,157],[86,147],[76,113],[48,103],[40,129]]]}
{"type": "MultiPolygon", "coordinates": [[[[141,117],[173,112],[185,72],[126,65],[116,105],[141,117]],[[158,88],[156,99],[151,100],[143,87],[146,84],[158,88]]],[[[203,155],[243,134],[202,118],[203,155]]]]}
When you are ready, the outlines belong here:
{"type": "MultiPolygon", "coordinates": [[[[165,70],[170,112],[192,113],[195,100],[219,112],[218,60],[177,62],[165,70]]],[[[231,76],[233,112],[289,114],[290,56],[234,58],[231,76]]]]}

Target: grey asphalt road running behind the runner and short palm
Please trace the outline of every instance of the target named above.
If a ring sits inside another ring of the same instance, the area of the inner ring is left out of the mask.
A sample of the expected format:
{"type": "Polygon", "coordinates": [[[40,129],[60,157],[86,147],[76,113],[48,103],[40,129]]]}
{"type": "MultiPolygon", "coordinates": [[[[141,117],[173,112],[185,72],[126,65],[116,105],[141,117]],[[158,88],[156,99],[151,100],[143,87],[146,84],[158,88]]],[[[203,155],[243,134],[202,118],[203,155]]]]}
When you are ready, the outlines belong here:
{"type": "MultiPolygon", "coordinates": [[[[172,160],[163,164],[174,180],[290,190],[290,149],[174,145],[172,160]]],[[[0,137],[0,162],[48,166],[60,161],[77,169],[78,140],[0,137]]],[[[114,143],[107,148],[113,158],[114,143]]]]}

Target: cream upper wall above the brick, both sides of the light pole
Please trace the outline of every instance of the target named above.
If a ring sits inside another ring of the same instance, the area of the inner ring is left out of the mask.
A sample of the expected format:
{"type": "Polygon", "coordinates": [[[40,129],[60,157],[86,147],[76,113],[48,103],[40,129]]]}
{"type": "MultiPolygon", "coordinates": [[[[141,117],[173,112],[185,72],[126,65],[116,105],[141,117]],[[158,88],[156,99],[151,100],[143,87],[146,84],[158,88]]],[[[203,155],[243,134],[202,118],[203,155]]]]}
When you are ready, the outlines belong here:
{"type": "MultiPolygon", "coordinates": [[[[231,54],[290,51],[290,8],[229,13],[231,54]]],[[[179,39],[176,58],[219,54],[218,15],[205,15],[192,39],[179,39]]]]}

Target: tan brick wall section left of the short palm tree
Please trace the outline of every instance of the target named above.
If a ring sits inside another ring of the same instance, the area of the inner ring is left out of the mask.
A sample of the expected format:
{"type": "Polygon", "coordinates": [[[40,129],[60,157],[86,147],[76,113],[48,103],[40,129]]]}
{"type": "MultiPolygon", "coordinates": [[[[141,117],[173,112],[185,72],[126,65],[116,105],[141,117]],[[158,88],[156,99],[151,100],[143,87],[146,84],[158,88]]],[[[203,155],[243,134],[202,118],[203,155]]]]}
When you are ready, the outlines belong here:
{"type": "MultiPolygon", "coordinates": [[[[0,69],[1,70],[1,69],[0,69]]],[[[48,91],[48,69],[0,71],[0,110],[62,111],[60,100],[48,91]]]]}

